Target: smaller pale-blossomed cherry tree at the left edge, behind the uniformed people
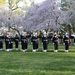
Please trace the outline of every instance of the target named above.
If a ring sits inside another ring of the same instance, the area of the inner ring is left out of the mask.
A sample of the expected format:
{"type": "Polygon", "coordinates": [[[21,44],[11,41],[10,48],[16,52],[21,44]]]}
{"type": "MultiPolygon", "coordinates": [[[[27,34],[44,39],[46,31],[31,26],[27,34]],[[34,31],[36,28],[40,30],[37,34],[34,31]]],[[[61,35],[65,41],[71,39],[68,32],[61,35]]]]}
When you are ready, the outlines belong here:
{"type": "MultiPolygon", "coordinates": [[[[12,12],[10,12],[12,13],[12,12]]],[[[10,29],[19,30],[19,28],[22,26],[22,16],[18,14],[12,13],[12,15],[9,15],[9,12],[2,12],[0,13],[0,24],[2,27],[8,27],[10,29]]]]}

